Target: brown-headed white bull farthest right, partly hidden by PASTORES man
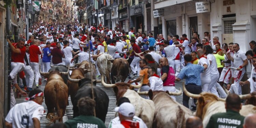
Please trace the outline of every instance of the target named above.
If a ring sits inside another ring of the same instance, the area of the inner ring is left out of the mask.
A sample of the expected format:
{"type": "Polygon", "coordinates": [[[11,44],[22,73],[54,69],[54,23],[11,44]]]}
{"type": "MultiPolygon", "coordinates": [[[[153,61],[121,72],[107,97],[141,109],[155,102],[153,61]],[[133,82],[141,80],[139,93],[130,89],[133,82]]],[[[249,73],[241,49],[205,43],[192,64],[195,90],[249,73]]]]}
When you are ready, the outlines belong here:
{"type": "MultiPolygon", "coordinates": [[[[210,117],[219,112],[226,112],[225,109],[225,99],[218,98],[214,94],[203,92],[199,95],[191,94],[187,91],[185,88],[185,85],[183,85],[184,93],[188,97],[192,97],[197,100],[197,111],[196,116],[201,118],[203,120],[203,126],[206,126],[210,120],[210,117]]],[[[240,95],[241,99],[248,99],[251,97],[251,95],[240,95]]],[[[242,109],[239,112],[243,116],[247,116],[251,113],[256,113],[256,107],[249,104],[249,105],[242,105],[242,109]]]]}

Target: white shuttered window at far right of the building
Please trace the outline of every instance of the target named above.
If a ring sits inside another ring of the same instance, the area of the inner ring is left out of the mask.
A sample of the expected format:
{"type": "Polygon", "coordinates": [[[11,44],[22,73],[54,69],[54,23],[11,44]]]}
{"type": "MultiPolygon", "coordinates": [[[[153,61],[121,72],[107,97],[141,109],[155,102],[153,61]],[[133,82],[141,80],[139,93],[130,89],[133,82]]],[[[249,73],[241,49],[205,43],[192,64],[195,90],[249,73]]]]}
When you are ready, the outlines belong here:
{"type": "Polygon", "coordinates": [[[234,43],[238,43],[240,49],[246,52],[245,30],[234,31],[234,43]]]}

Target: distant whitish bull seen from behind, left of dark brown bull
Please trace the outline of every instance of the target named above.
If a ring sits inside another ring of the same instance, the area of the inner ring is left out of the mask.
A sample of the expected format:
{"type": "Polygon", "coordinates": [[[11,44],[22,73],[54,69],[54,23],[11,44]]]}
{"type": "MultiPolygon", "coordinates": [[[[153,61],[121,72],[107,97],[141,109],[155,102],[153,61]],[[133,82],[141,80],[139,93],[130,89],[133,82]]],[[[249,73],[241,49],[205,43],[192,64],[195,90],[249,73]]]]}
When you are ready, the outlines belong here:
{"type": "Polygon", "coordinates": [[[114,60],[109,54],[102,54],[97,58],[97,67],[101,77],[106,76],[106,83],[110,84],[110,71],[112,68],[111,61],[114,60]]]}

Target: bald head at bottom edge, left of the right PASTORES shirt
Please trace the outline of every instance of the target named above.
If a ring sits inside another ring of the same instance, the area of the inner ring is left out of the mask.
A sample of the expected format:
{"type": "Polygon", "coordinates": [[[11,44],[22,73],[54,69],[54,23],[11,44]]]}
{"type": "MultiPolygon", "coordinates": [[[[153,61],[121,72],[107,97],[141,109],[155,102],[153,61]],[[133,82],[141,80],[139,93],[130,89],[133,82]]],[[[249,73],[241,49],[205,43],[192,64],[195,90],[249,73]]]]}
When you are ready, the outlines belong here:
{"type": "Polygon", "coordinates": [[[187,118],[186,128],[202,128],[202,127],[203,127],[203,123],[199,117],[190,116],[187,118]]]}

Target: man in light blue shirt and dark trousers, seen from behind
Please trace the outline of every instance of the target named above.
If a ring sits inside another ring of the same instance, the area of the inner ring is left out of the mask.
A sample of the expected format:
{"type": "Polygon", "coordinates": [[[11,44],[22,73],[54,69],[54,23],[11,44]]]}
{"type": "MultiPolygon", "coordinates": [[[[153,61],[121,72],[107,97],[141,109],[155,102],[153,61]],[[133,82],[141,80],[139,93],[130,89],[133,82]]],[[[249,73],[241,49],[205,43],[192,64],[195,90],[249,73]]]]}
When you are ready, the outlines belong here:
{"type": "MultiPolygon", "coordinates": [[[[192,65],[192,57],[190,54],[184,55],[185,65],[179,76],[176,78],[176,81],[181,81],[183,78],[186,78],[185,87],[186,89],[193,94],[200,94],[202,91],[200,73],[204,71],[204,67],[200,65],[192,65]]],[[[183,105],[188,107],[189,97],[186,96],[183,92],[183,105]]],[[[197,99],[194,99],[196,103],[197,99]]]]}

